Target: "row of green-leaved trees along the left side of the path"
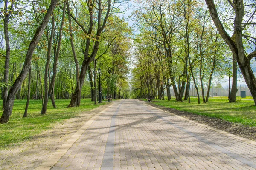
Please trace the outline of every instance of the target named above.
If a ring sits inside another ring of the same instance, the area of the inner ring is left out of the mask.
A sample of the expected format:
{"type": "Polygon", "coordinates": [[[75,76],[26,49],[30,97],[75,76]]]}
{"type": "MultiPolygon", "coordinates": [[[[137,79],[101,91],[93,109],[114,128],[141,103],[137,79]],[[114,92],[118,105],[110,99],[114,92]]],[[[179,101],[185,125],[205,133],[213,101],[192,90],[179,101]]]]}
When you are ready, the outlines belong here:
{"type": "Polygon", "coordinates": [[[125,0],[5,0],[1,8],[0,71],[3,114],[8,122],[15,98],[41,99],[41,114],[51,99],[97,100],[98,68],[102,92],[128,95],[131,28],[119,17],[125,0]],[[33,37],[31,39],[31,37],[33,37]]]}

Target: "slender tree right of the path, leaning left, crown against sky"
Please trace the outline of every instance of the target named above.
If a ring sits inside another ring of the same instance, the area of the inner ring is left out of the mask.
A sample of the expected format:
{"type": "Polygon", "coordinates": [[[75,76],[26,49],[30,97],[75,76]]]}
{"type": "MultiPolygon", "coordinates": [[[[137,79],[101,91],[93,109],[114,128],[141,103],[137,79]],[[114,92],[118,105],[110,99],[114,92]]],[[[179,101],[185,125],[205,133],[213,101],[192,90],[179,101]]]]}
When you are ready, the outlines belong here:
{"type": "Polygon", "coordinates": [[[179,6],[166,0],[145,0],[141,3],[140,10],[137,10],[137,17],[144,20],[147,25],[153,27],[162,35],[160,41],[162,41],[165,49],[171,84],[176,100],[182,102],[175,82],[174,48],[172,47],[172,43],[175,41],[175,33],[181,22],[179,6]],[[146,14],[144,14],[144,9],[148,11],[146,14]]]}

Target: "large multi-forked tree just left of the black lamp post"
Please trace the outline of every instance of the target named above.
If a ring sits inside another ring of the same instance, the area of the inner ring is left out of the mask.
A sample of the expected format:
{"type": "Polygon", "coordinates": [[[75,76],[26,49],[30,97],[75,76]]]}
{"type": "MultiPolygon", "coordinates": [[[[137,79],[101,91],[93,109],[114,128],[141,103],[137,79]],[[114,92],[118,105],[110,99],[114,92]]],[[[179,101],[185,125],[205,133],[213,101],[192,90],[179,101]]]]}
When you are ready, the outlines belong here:
{"type": "MultiPolygon", "coordinates": [[[[84,78],[85,78],[85,74],[87,72],[88,66],[93,61],[93,59],[96,57],[96,54],[99,50],[100,37],[101,37],[102,31],[104,30],[107,20],[108,20],[108,17],[111,15],[112,9],[113,9],[113,7],[111,8],[111,0],[108,0],[107,3],[102,3],[102,0],[98,0],[98,1],[88,0],[88,1],[86,1],[86,4],[87,4],[86,10],[89,13],[89,20],[87,20],[88,28],[85,28],[84,24],[80,23],[79,20],[76,18],[76,16],[71,15],[73,20],[81,28],[81,30],[84,32],[84,35],[86,37],[85,47],[83,48],[84,59],[83,59],[83,63],[81,66],[80,77],[79,77],[80,89],[82,88],[82,86],[84,84],[84,78]],[[95,3],[98,4],[97,8],[95,6],[95,3]],[[97,11],[96,16],[94,15],[95,10],[97,11]],[[103,11],[104,11],[104,13],[103,13],[103,11]],[[102,14],[105,14],[103,22],[102,22],[102,14]],[[94,32],[93,26],[96,23],[94,21],[95,17],[97,18],[98,22],[97,22],[97,30],[95,31],[96,34],[94,35],[95,37],[93,38],[93,32],[94,32]],[[92,52],[89,54],[91,40],[93,40],[93,49],[91,50],[92,52]]],[[[79,106],[80,101],[78,102],[78,98],[81,98],[80,96],[81,96],[81,93],[79,93],[78,88],[76,88],[68,107],[79,106]]]]}

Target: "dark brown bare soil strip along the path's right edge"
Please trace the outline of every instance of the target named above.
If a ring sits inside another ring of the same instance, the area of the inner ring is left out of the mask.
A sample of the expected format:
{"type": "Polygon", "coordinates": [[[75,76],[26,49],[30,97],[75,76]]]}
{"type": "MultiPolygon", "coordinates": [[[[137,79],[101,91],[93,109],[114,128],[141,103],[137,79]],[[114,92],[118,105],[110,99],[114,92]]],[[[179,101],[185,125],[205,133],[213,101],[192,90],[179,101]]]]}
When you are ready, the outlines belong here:
{"type": "Polygon", "coordinates": [[[173,108],[166,108],[163,106],[156,105],[154,103],[147,103],[147,104],[152,105],[156,108],[160,108],[164,111],[174,113],[178,116],[182,116],[187,119],[209,125],[216,129],[223,130],[225,132],[256,141],[256,127],[249,127],[249,126],[241,125],[239,123],[228,122],[222,119],[202,116],[202,115],[198,115],[198,114],[190,113],[186,111],[179,111],[173,108]]]}

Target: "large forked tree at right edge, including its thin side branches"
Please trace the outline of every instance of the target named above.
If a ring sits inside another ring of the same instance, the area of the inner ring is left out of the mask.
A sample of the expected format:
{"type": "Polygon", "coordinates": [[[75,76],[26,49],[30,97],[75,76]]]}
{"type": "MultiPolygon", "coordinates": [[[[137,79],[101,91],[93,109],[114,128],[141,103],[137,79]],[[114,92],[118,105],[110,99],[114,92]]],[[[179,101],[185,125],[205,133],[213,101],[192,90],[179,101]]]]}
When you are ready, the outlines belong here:
{"type": "MultiPolygon", "coordinates": [[[[207,6],[209,8],[211,17],[215,26],[217,27],[221,37],[225,40],[227,45],[229,46],[230,50],[232,51],[236,61],[239,65],[241,73],[245,79],[245,82],[253,96],[254,104],[256,105],[256,77],[253,74],[250,61],[254,57],[256,57],[256,51],[251,51],[247,54],[247,49],[244,48],[243,38],[253,38],[252,36],[247,36],[244,34],[244,30],[251,25],[255,25],[255,13],[256,9],[251,8],[254,3],[251,1],[244,1],[244,0],[234,0],[233,2],[229,0],[231,8],[233,9],[235,16],[234,16],[234,27],[233,27],[233,35],[227,33],[226,29],[224,28],[223,24],[221,23],[219,12],[215,7],[214,0],[205,0],[207,6]],[[244,5],[244,3],[248,3],[244,5]]],[[[253,29],[253,28],[251,28],[253,29]]]]}

